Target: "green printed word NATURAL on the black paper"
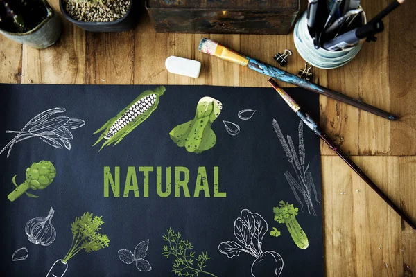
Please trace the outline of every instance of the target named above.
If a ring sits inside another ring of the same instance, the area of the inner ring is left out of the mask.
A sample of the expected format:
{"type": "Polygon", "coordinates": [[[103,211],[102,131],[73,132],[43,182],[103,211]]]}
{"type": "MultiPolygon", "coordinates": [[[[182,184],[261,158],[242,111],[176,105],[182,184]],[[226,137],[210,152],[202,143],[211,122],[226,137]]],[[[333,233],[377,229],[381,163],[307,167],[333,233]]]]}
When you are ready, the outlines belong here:
{"type": "MultiPolygon", "coordinates": [[[[227,193],[220,192],[218,182],[218,166],[212,170],[212,179],[209,183],[207,169],[205,166],[198,167],[195,185],[189,182],[189,170],[184,166],[166,167],[162,166],[139,166],[139,172],[142,172],[141,179],[143,188],[139,192],[139,183],[137,181],[137,171],[134,166],[129,166],[125,176],[123,197],[129,197],[130,192],[135,197],[149,197],[149,187],[156,187],[156,193],[159,197],[168,197],[174,190],[175,197],[191,197],[189,186],[193,188],[193,197],[227,197],[227,193]],[[156,170],[155,170],[156,169],[156,170]],[[164,175],[164,176],[162,176],[164,175]],[[163,178],[162,178],[163,177],[163,178]],[[162,179],[164,182],[162,182],[162,179]],[[174,181],[172,183],[172,180],[174,181]],[[151,186],[150,186],[151,184],[151,186]],[[211,193],[212,192],[212,193],[211,193]],[[141,194],[141,195],[140,195],[141,194]]],[[[120,197],[120,167],[114,168],[114,175],[109,166],[104,167],[104,197],[110,197],[110,191],[114,197],[120,197]],[[111,188],[111,190],[110,190],[111,188]]]]}

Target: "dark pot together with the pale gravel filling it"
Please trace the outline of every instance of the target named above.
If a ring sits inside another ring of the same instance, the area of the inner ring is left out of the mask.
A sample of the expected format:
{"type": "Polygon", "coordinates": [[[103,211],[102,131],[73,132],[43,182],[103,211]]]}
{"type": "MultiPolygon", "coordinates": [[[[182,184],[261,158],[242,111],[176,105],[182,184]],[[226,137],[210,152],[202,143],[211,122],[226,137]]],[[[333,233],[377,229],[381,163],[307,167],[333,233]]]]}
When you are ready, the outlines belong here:
{"type": "Polygon", "coordinates": [[[62,15],[90,32],[124,32],[135,26],[134,0],[60,0],[62,15]]]}

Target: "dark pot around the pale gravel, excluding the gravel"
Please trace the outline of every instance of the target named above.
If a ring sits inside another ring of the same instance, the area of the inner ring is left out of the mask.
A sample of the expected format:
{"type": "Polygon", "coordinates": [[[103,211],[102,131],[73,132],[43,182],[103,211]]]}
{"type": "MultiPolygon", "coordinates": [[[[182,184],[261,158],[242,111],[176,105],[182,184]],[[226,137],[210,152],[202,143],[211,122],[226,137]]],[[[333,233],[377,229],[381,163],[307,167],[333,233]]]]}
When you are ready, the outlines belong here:
{"type": "Polygon", "coordinates": [[[128,7],[127,12],[121,19],[117,19],[110,22],[85,22],[78,21],[69,16],[67,10],[64,7],[64,0],[59,0],[60,10],[62,15],[68,20],[71,21],[76,26],[83,28],[89,32],[125,32],[132,29],[135,26],[135,17],[133,15],[133,2],[135,0],[130,0],[130,6],[128,7]]]}

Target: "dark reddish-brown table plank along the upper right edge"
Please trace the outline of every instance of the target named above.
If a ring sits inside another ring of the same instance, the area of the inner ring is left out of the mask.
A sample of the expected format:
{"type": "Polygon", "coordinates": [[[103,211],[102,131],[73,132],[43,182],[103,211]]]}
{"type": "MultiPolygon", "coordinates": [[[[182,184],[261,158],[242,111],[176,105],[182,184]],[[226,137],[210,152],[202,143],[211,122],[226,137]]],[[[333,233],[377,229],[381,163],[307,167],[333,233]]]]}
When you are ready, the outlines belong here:
{"type": "Polygon", "coordinates": [[[416,1],[406,1],[406,6],[392,13],[389,25],[389,82],[390,107],[401,116],[392,125],[391,152],[416,154],[416,1]]]}

